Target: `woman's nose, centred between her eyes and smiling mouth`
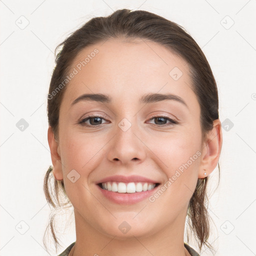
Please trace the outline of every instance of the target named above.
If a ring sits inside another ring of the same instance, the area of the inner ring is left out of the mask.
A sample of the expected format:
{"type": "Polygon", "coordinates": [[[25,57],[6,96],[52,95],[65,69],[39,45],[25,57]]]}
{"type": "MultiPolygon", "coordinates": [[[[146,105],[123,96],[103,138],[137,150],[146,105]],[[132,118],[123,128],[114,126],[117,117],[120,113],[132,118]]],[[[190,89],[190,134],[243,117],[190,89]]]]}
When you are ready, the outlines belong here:
{"type": "Polygon", "coordinates": [[[116,133],[109,144],[108,159],[120,164],[140,163],[146,157],[146,146],[136,125],[123,119],[116,127],[116,133]],[[128,125],[128,126],[127,126],[128,125]]]}

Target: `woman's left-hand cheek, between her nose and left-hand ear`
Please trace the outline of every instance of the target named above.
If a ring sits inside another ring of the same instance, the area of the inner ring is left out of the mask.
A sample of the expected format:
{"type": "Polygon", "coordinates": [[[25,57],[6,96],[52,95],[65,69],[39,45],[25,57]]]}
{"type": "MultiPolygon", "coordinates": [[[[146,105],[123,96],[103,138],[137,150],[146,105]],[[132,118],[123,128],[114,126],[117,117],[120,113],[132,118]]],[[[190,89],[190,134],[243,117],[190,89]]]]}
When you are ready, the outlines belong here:
{"type": "MultiPolygon", "coordinates": [[[[61,143],[61,161],[64,165],[63,179],[66,194],[73,206],[77,208],[84,207],[81,202],[93,204],[90,193],[87,192],[88,179],[90,172],[99,162],[102,141],[95,139],[95,136],[77,131],[65,130],[62,134],[64,136],[61,143]],[[73,181],[72,176],[74,176],[73,181]]],[[[87,211],[85,208],[83,210],[87,211]]]]}

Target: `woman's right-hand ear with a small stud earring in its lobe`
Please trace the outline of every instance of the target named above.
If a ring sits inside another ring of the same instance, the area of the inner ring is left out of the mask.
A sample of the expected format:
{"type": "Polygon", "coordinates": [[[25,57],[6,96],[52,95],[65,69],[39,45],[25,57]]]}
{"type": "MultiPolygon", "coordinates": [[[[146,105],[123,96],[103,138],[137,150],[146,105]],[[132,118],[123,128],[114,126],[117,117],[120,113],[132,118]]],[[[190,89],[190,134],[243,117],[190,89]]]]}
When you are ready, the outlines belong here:
{"type": "Polygon", "coordinates": [[[213,128],[207,133],[207,140],[202,145],[202,156],[198,178],[209,175],[216,167],[222,147],[222,130],[219,119],[213,121],[213,128]],[[206,172],[206,175],[204,174],[206,172]]]}

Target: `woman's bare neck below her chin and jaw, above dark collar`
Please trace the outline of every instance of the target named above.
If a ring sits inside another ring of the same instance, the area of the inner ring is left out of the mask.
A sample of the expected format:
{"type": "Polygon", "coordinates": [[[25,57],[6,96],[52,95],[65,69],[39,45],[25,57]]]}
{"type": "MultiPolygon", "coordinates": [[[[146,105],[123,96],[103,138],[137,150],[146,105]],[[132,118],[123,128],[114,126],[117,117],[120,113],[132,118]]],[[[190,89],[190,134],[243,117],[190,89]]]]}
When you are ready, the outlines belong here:
{"type": "Polygon", "coordinates": [[[123,238],[99,232],[75,211],[76,242],[69,256],[189,256],[190,254],[184,247],[183,242],[184,223],[185,215],[180,214],[163,229],[152,232],[151,235],[130,234],[123,238]]]}

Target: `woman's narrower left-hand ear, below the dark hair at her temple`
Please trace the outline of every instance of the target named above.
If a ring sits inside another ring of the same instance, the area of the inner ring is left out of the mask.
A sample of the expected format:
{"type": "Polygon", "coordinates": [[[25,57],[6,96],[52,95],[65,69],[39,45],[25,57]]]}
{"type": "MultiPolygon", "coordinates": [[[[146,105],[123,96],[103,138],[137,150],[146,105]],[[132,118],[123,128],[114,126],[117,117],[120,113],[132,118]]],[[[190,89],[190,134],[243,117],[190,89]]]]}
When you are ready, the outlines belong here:
{"type": "Polygon", "coordinates": [[[52,131],[51,126],[48,127],[48,144],[50,147],[50,156],[53,166],[53,175],[55,179],[61,180],[63,179],[63,173],[62,173],[62,163],[60,159],[60,151],[59,151],[59,145],[58,142],[54,138],[54,133],[52,131]]]}

